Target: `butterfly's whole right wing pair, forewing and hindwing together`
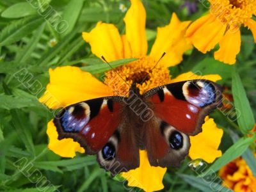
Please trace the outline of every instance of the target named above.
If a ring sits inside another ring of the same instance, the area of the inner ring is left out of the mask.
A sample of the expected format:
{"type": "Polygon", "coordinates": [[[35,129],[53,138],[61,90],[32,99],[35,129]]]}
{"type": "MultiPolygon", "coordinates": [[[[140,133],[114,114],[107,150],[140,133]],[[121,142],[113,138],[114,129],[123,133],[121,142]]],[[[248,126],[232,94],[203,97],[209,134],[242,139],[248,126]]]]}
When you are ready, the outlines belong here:
{"type": "Polygon", "coordinates": [[[189,152],[189,136],[202,131],[205,116],[221,105],[221,88],[207,80],[166,84],[144,95],[154,118],[145,124],[145,148],[153,166],[179,166],[189,152]],[[150,127],[150,128],[149,128],[150,127]]]}

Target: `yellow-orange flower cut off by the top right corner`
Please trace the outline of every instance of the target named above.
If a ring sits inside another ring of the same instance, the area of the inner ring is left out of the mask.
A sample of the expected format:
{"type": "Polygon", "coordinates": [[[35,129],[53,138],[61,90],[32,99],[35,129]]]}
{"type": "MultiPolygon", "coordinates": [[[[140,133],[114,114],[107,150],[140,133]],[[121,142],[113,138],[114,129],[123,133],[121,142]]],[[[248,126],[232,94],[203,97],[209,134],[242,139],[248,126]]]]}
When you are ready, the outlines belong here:
{"type": "Polygon", "coordinates": [[[201,52],[207,52],[219,43],[220,49],[214,58],[230,65],[236,63],[240,52],[240,27],[247,26],[256,42],[256,1],[251,0],[208,0],[210,12],[189,26],[186,36],[201,52]]]}

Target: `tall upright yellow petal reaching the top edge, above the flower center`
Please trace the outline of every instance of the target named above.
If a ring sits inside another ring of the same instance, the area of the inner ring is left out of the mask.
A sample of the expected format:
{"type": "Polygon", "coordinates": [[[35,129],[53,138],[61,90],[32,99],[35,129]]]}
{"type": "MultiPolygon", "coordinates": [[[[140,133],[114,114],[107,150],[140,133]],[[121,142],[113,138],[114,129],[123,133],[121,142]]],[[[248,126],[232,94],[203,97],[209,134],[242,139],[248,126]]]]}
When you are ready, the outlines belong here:
{"type": "Polygon", "coordinates": [[[146,11],[140,0],[131,0],[131,7],[125,17],[125,34],[131,45],[132,57],[140,58],[147,54],[146,11]]]}

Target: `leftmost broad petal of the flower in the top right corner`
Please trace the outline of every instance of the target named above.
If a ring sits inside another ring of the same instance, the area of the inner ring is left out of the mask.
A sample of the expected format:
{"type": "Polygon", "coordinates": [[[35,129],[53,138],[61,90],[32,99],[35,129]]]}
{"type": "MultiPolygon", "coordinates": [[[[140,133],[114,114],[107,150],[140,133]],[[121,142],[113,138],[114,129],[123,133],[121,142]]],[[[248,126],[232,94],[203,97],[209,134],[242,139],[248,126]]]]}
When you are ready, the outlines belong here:
{"type": "Polygon", "coordinates": [[[189,26],[186,36],[201,52],[206,53],[214,48],[225,33],[224,26],[216,17],[205,15],[189,26]]]}

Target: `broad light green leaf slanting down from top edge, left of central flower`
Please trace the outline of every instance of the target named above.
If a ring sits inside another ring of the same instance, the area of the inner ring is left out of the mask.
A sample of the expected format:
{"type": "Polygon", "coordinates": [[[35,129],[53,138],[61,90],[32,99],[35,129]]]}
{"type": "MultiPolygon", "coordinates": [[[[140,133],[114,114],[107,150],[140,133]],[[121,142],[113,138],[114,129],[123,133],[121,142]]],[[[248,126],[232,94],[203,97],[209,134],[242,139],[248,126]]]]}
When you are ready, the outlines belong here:
{"type": "Polygon", "coordinates": [[[84,0],[71,0],[67,4],[65,10],[63,11],[63,20],[67,21],[68,28],[61,36],[65,36],[74,29],[77,19],[80,15],[81,9],[83,8],[84,0]]]}

